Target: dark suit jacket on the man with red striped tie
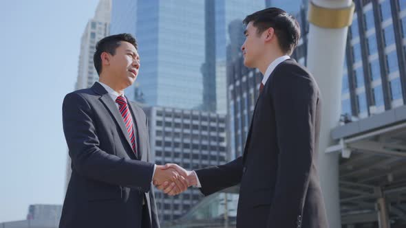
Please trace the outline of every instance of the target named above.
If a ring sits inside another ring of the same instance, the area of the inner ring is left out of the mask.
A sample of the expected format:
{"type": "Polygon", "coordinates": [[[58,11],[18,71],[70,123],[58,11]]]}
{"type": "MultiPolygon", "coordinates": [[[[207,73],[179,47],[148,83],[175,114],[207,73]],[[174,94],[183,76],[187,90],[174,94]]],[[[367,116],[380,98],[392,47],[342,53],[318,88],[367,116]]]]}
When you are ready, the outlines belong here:
{"type": "Polygon", "coordinates": [[[116,103],[101,84],[65,96],[63,132],[72,176],[60,228],[159,227],[151,191],[147,117],[136,104],[128,103],[138,156],[116,103]]]}

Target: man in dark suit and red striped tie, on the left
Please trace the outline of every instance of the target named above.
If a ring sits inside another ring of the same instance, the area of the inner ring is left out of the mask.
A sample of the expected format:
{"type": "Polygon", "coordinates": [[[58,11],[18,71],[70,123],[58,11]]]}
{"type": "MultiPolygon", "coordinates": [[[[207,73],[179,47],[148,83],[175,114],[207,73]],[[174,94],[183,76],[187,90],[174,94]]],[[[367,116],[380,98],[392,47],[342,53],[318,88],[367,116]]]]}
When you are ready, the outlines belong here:
{"type": "Polygon", "coordinates": [[[147,117],[124,95],[140,68],[135,38],[103,38],[94,65],[99,81],[63,101],[72,176],[59,227],[160,227],[152,181],[171,183],[173,194],[186,190],[187,182],[174,169],[149,163],[147,117]]]}

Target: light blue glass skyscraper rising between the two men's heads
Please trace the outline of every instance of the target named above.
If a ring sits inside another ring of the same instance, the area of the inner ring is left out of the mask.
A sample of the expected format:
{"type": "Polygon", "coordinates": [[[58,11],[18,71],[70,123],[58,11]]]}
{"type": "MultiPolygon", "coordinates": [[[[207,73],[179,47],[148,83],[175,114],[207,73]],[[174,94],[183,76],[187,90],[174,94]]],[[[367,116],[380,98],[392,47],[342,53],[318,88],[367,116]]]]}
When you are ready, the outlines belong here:
{"type": "MultiPolygon", "coordinates": [[[[204,1],[113,1],[111,33],[136,36],[137,82],[146,104],[200,108],[204,18],[204,1]]],[[[133,99],[134,90],[126,90],[133,99]]]]}

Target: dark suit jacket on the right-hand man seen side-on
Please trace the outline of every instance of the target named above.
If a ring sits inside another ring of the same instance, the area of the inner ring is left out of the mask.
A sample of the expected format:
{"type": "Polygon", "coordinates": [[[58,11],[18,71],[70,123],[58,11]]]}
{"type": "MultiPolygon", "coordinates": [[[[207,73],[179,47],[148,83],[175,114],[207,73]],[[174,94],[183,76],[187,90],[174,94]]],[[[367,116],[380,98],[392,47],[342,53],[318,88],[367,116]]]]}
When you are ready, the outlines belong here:
{"type": "Polygon", "coordinates": [[[240,183],[237,227],[328,227],[317,174],[320,111],[311,74],[281,62],[255,105],[244,155],[196,170],[202,193],[240,183]]]}

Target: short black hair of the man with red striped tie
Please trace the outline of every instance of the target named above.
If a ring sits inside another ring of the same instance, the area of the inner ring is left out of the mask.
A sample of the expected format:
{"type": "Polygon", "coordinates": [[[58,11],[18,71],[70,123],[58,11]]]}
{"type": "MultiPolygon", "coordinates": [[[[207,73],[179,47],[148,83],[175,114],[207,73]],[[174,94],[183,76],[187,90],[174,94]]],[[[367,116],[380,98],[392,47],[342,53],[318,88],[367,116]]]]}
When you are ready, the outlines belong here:
{"type": "Polygon", "coordinates": [[[128,33],[106,36],[105,38],[102,38],[100,41],[98,41],[96,45],[96,52],[94,52],[93,55],[93,62],[94,68],[96,68],[97,74],[99,76],[102,71],[101,54],[103,52],[108,52],[109,54],[114,56],[116,54],[117,47],[120,47],[122,41],[131,43],[131,45],[134,45],[134,47],[136,47],[137,49],[136,38],[128,33]]]}

